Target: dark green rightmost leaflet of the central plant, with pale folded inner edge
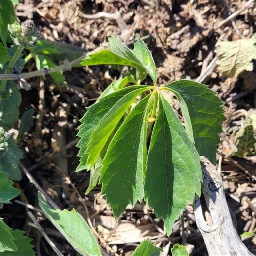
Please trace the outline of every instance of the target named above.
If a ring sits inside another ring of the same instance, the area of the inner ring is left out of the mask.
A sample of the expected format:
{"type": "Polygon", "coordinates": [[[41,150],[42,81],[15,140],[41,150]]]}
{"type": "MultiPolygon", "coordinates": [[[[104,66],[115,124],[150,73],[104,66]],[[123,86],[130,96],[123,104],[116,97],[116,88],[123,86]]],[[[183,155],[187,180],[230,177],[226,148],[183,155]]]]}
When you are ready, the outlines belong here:
{"type": "Polygon", "coordinates": [[[220,107],[223,102],[206,85],[189,80],[175,81],[162,88],[168,88],[180,100],[186,131],[189,137],[193,132],[198,154],[216,164],[218,133],[222,132],[220,122],[225,120],[220,107]]]}

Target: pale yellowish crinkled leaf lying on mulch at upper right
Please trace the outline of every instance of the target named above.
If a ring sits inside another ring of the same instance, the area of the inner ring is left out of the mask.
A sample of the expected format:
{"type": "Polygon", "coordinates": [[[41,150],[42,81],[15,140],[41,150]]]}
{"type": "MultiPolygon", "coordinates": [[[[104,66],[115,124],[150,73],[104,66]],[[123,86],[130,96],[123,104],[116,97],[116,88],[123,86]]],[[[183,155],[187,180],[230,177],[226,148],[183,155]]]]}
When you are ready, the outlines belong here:
{"type": "Polygon", "coordinates": [[[249,39],[220,41],[214,50],[219,60],[218,69],[228,77],[237,77],[244,70],[252,71],[256,59],[256,34],[249,39]]]}

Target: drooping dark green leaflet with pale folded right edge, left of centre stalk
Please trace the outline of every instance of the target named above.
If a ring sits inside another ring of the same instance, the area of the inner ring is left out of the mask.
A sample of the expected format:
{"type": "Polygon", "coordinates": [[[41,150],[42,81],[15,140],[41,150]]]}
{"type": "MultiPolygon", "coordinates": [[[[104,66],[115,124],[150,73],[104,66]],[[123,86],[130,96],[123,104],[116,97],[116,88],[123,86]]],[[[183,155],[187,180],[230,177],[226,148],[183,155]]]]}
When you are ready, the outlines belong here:
{"type": "Polygon", "coordinates": [[[114,135],[100,171],[102,194],[106,194],[114,216],[128,204],[143,199],[143,173],[146,164],[148,95],[125,118],[114,135]]]}

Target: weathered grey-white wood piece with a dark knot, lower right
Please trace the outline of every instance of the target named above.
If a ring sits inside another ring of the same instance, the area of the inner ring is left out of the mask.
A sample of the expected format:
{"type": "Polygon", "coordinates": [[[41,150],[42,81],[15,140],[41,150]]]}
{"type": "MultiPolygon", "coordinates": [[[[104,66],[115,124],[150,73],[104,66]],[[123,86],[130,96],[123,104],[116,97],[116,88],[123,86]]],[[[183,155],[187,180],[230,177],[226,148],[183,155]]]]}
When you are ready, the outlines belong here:
{"type": "Polygon", "coordinates": [[[201,156],[202,195],[195,196],[194,213],[209,256],[252,255],[240,240],[233,225],[216,167],[201,156]]]}

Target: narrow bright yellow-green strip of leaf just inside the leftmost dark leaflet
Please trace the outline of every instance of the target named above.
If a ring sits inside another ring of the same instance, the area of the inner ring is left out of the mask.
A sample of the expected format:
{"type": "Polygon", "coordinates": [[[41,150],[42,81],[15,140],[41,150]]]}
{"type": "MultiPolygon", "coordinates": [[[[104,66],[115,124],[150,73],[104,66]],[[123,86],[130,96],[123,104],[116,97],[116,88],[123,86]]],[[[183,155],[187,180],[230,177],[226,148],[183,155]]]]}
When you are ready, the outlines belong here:
{"type": "MultiPolygon", "coordinates": [[[[129,86],[130,88],[132,86],[129,86]]],[[[135,86],[136,87],[136,86],[135,86]]],[[[86,164],[90,164],[91,167],[95,164],[96,159],[98,158],[100,151],[107,142],[109,136],[115,129],[117,123],[124,115],[125,111],[134,101],[134,99],[143,91],[152,88],[152,86],[139,86],[139,89],[133,90],[132,92],[124,95],[123,98],[118,100],[116,104],[108,111],[108,113],[99,121],[99,125],[92,132],[90,136],[90,142],[87,145],[86,154],[88,154],[88,159],[86,164]]],[[[126,88],[122,89],[126,90],[126,88]]],[[[120,90],[121,91],[121,90],[120,90]]],[[[118,92],[118,91],[117,91],[118,92]]],[[[113,96],[115,93],[112,93],[113,96]]],[[[112,95],[110,94],[110,96],[112,95]]],[[[104,99],[104,98],[103,98],[104,99]]]]}

